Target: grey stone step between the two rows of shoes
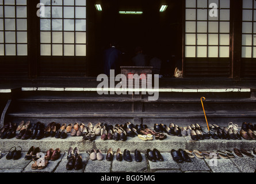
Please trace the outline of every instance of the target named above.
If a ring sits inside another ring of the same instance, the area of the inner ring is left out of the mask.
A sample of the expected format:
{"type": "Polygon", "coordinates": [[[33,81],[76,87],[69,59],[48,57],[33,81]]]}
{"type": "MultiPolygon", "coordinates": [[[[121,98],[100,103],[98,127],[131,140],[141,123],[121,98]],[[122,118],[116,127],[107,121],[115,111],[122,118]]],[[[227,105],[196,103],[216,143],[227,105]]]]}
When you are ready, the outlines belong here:
{"type": "MultiPolygon", "coordinates": [[[[17,132],[18,133],[18,132],[17,132]]],[[[44,137],[40,140],[21,140],[16,139],[0,139],[1,151],[9,151],[11,147],[19,145],[23,151],[28,151],[33,145],[40,147],[41,151],[48,151],[49,148],[60,148],[62,151],[68,151],[70,147],[78,147],[81,151],[90,151],[91,149],[100,149],[107,152],[109,148],[117,150],[128,149],[134,151],[136,149],[146,152],[147,148],[156,148],[161,152],[169,152],[171,149],[179,148],[188,150],[232,150],[233,148],[244,148],[253,150],[256,147],[256,140],[221,140],[209,139],[194,141],[190,136],[178,137],[167,135],[164,140],[140,140],[139,137],[127,137],[127,141],[101,140],[97,136],[95,141],[82,140],[82,136],[68,136],[66,139],[56,139],[55,137],[44,137]]]]}

